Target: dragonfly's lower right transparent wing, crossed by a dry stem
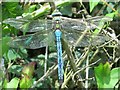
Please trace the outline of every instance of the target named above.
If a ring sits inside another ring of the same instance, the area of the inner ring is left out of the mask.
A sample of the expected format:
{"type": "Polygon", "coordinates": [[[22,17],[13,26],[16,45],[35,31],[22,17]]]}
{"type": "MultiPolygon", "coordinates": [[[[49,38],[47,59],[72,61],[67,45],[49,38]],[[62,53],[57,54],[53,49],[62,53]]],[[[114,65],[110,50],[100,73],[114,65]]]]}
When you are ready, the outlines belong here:
{"type": "MultiPolygon", "coordinates": [[[[69,45],[74,46],[81,35],[82,33],[66,33],[64,34],[63,38],[68,41],[69,45]]],[[[77,47],[86,47],[89,45],[97,46],[105,43],[108,40],[110,40],[110,37],[103,34],[97,36],[92,36],[90,34],[89,35],[87,34],[77,44],[77,47]]]]}

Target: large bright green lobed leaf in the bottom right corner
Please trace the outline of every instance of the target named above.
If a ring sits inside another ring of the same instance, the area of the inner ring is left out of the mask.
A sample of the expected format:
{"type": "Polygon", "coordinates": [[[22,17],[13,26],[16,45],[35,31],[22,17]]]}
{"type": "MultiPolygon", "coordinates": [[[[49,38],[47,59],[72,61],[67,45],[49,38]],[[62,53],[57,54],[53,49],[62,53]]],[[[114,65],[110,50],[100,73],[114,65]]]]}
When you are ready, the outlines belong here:
{"type": "Polygon", "coordinates": [[[114,88],[120,79],[120,67],[110,70],[110,64],[108,62],[95,67],[94,71],[98,88],[114,88]]]}

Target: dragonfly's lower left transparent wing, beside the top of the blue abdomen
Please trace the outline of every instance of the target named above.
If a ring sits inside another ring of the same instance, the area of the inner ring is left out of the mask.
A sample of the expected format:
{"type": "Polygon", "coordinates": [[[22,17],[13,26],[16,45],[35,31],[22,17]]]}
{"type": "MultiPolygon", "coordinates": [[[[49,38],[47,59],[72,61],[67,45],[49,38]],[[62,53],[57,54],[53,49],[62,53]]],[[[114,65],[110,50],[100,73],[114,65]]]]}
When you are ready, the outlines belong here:
{"type": "Polygon", "coordinates": [[[53,46],[55,45],[54,38],[55,37],[53,32],[50,32],[49,34],[35,33],[25,36],[19,36],[10,42],[10,47],[13,48],[24,47],[28,49],[37,49],[45,47],[46,45],[53,46]]]}

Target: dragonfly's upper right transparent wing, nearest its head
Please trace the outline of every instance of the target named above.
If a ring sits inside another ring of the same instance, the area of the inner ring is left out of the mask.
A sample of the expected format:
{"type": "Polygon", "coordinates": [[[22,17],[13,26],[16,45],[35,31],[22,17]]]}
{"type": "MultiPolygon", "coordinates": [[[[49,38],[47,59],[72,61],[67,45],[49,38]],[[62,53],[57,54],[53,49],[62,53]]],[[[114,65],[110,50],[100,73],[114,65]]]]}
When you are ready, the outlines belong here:
{"type": "MultiPolygon", "coordinates": [[[[61,17],[62,18],[62,17],[61,17]]],[[[62,18],[62,28],[65,31],[74,31],[74,30],[79,30],[83,31],[86,28],[89,29],[95,29],[100,22],[108,22],[111,21],[112,19],[109,17],[102,17],[102,16],[97,16],[97,17],[92,17],[88,18],[86,20],[82,19],[71,19],[71,18],[62,18]]]]}

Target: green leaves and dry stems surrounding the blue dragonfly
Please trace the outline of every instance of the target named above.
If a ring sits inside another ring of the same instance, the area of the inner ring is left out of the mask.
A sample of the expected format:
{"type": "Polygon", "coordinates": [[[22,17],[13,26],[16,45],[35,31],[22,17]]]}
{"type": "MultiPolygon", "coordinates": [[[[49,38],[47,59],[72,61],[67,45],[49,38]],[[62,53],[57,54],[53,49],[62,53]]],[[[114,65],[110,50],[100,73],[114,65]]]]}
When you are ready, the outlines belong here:
{"type": "MultiPolygon", "coordinates": [[[[86,14],[89,14],[91,16],[109,16],[113,20],[119,13],[116,10],[118,6],[117,2],[107,3],[104,0],[104,2],[100,2],[100,0],[97,0],[96,2],[93,0],[90,1],[91,2],[82,2],[79,0],[79,2],[71,2],[71,0],[64,0],[62,2],[56,1],[55,5],[58,7],[63,16],[71,17],[72,19],[79,19],[81,17],[85,18],[87,17],[86,14]],[[76,8],[75,12],[73,12],[74,8],[76,8]]],[[[79,82],[85,82],[85,86],[82,85],[82,88],[114,88],[120,79],[118,76],[120,68],[112,66],[115,63],[119,63],[119,59],[115,59],[118,57],[114,54],[114,50],[116,49],[115,46],[117,46],[118,43],[115,43],[115,45],[112,43],[111,47],[108,44],[108,47],[76,47],[73,51],[71,50],[71,47],[69,47],[68,43],[65,43],[65,48],[63,48],[65,50],[65,53],[63,53],[65,60],[64,83],[61,86],[59,86],[58,83],[56,70],[57,53],[55,49],[51,49],[51,47],[49,48],[49,60],[46,61],[44,48],[40,48],[38,50],[34,49],[29,52],[30,50],[25,49],[24,47],[14,48],[10,46],[10,42],[13,38],[28,34],[27,30],[29,29],[29,23],[22,26],[26,19],[45,19],[47,15],[51,15],[51,8],[52,6],[50,6],[48,2],[3,2],[2,57],[5,60],[6,75],[4,77],[2,75],[2,87],[5,89],[14,88],[15,90],[17,88],[22,89],[31,87],[49,89],[81,88],[79,85],[82,84],[79,82]],[[23,18],[21,19],[22,23],[19,21],[12,22],[12,20],[9,23],[5,23],[5,20],[8,20],[9,18],[21,17],[23,18]],[[23,29],[22,32],[19,30],[21,28],[23,29]],[[67,59],[65,57],[66,55],[67,59]],[[86,65],[88,59],[89,64],[86,65]],[[109,59],[112,59],[112,61],[108,62],[109,59]],[[46,64],[47,67],[45,66],[46,64]],[[86,77],[87,68],[89,68],[88,78],[86,77]],[[78,77],[80,77],[80,79],[78,77]],[[89,80],[90,77],[92,80],[89,80]],[[96,80],[94,78],[96,78],[96,80]]],[[[104,28],[105,30],[108,29],[109,25],[109,23],[101,24],[100,22],[98,24],[99,28],[104,28]]],[[[93,37],[98,35],[100,32],[101,30],[98,29],[92,31],[93,37]]],[[[117,51],[120,51],[119,47],[117,48],[117,51]]],[[[119,54],[119,52],[117,53],[119,54]]]]}

